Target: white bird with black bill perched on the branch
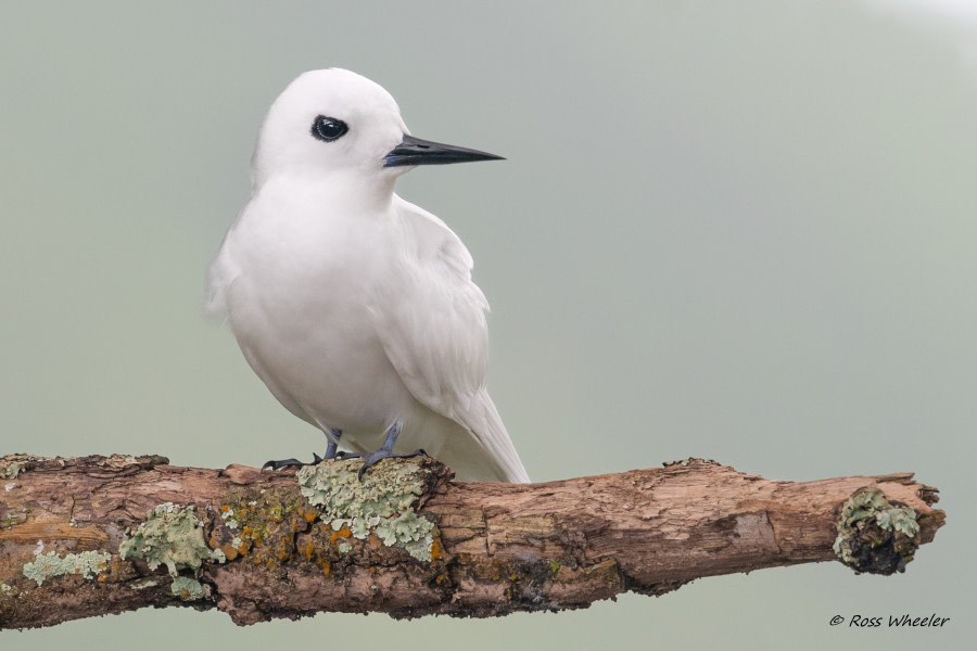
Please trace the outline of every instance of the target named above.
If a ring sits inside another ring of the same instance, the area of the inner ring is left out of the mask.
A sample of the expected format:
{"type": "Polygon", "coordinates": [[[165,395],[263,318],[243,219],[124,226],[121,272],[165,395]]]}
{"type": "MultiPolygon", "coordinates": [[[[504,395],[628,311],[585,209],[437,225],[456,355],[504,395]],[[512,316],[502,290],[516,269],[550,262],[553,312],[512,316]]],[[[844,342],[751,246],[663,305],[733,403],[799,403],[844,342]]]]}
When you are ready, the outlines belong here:
{"type": "MultiPolygon", "coordinates": [[[[415,167],[492,159],[415,138],[386,90],[342,68],[300,75],[262,124],[206,308],[279,403],[322,431],[325,459],[363,459],[360,478],[427,454],[458,481],[530,481],[486,390],[471,254],[394,192],[415,167]]],[[[304,464],[264,468],[290,465],[304,464]]]]}

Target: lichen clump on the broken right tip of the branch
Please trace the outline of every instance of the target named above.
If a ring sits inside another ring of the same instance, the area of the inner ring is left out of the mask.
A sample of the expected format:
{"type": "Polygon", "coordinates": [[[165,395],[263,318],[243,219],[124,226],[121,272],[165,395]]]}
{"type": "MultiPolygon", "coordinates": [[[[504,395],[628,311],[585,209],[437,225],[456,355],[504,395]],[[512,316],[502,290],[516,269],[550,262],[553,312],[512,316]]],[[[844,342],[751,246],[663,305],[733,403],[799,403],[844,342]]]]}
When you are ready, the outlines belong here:
{"type": "Polygon", "coordinates": [[[877,488],[863,488],[841,508],[834,550],[858,572],[901,572],[918,547],[919,523],[910,507],[894,507],[877,488]]]}

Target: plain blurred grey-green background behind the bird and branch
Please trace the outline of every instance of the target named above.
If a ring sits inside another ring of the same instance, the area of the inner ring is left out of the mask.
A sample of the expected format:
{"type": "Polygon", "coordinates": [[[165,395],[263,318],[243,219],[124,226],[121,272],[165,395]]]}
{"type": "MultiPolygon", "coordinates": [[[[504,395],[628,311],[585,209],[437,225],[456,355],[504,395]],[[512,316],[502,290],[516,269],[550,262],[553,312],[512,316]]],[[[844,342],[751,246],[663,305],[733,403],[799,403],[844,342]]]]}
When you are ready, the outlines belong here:
{"type": "Polygon", "coordinates": [[[509,158],[399,192],[474,255],[492,393],[534,478],[688,456],[772,478],[913,470],[950,523],[888,578],[808,565],[478,622],[143,611],[0,647],[963,648],[968,29],[786,0],[4,3],[2,451],[223,467],[321,446],[200,304],[267,106],[332,65],[390,90],[415,135],[509,158]],[[951,622],[828,626],[934,612],[951,622]]]}

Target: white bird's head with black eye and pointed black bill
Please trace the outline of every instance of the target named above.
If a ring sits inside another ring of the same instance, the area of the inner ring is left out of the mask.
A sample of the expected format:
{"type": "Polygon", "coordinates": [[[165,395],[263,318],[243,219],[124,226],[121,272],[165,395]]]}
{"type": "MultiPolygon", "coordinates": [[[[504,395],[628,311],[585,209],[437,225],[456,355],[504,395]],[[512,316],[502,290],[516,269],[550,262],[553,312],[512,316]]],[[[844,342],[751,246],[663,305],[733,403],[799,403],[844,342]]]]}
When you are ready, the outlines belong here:
{"type": "Polygon", "coordinates": [[[417,165],[500,156],[409,135],[394,99],[350,71],[304,73],[275,100],[254,154],[255,182],[276,174],[392,181],[417,165]]]}

